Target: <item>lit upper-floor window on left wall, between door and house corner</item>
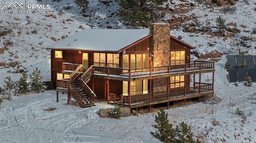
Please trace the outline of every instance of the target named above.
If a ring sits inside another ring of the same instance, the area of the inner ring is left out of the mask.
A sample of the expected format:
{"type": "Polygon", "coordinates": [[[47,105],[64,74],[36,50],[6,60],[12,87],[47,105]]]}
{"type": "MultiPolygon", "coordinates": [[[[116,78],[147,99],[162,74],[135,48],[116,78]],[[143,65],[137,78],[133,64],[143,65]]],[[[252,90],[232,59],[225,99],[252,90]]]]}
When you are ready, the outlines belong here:
{"type": "Polygon", "coordinates": [[[119,54],[94,53],[94,65],[119,67],[119,54]]]}

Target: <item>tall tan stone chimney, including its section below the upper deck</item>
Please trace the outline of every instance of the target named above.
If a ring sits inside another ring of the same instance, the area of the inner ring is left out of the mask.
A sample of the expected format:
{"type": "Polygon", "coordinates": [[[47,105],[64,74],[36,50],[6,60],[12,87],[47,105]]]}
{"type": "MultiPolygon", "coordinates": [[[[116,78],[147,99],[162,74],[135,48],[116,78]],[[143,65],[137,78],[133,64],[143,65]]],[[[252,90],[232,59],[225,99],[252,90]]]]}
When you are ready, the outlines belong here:
{"type": "MultiPolygon", "coordinates": [[[[164,23],[154,23],[150,25],[150,53],[151,67],[170,65],[170,25],[164,23]]],[[[166,91],[168,77],[152,79],[152,92],[166,91]]]]}

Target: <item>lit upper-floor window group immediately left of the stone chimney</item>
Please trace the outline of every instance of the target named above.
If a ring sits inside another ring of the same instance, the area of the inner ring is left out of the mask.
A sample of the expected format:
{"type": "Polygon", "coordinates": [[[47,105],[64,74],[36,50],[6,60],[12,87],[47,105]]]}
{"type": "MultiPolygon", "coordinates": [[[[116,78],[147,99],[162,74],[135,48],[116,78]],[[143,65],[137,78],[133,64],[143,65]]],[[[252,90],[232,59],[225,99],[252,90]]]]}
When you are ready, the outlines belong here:
{"type": "Polygon", "coordinates": [[[123,55],[123,68],[126,69],[140,69],[148,67],[148,54],[130,54],[123,55]],[[130,67],[129,67],[129,56],[130,56],[130,67]]]}

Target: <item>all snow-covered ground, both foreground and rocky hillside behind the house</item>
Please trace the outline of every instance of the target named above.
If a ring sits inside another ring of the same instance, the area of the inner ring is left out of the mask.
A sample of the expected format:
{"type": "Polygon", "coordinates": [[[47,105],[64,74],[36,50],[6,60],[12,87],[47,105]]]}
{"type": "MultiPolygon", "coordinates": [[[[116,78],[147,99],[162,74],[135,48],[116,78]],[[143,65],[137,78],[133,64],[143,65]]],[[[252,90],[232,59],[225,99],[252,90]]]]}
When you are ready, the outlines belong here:
{"type": "MultiPolygon", "coordinates": [[[[176,4],[180,3],[178,0],[173,1],[176,4]]],[[[0,47],[4,47],[3,42],[6,41],[13,43],[13,46],[8,46],[8,50],[4,50],[4,54],[0,54],[0,62],[5,62],[8,66],[9,63],[18,61],[28,74],[38,67],[42,71],[44,80],[50,80],[50,51],[44,48],[54,43],[51,37],[59,41],[62,36],[73,35],[83,28],[91,28],[93,21],[94,28],[106,28],[108,25],[112,28],[126,28],[117,20],[115,2],[108,1],[110,6],[107,6],[101,1],[90,1],[91,9],[86,12],[89,15],[87,18],[78,14],[79,8],[73,0],[60,2],[26,0],[26,2],[50,4],[49,14],[53,14],[56,18],[46,17],[46,14],[0,14],[1,30],[12,29],[11,34],[0,37],[0,47]],[[67,6],[71,9],[67,10],[67,6]],[[114,16],[111,16],[112,12],[114,16]],[[69,18],[73,21],[66,21],[69,18]],[[79,28],[80,25],[83,28],[79,28]],[[33,34],[32,31],[37,33],[33,34]],[[26,34],[27,32],[29,34],[26,34]]],[[[226,23],[233,22],[238,25],[241,29],[240,35],[252,37],[249,54],[256,55],[255,33],[252,32],[256,27],[254,1],[238,1],[237,10],[232,14],[224,14],[222,8],[198,4],[196,0],[186,2],[196,3],[198,6],[188,14],[174,14],[175,16],[195,15],[202,25],[209,25],[213,31],[217,30],[213,28],[216,25],[216,18],[222,16],[226,23]]],[[[8,4],[10,4],[9,0],[1,0],[0,7],[8,4]]],[[[183,41],[196,47],[201,53],[209,53],[217,49],[222,53],[237,54],[230,48],[230,38],[184,33],[182,29],[170,33],[176,37],[182,36],[183,41]],[[215,45],[210,46],[209,43],[215,45]]],[[[192,57],[197,59],[194,54],[192,57]]],[[[228,74],[224,69],[226,55],[219,59],[220,61],[215,63],[214,91],[216,96],[222,99],[220,103],[210,105],[201,102],[165,111],[171,123],[174,125],[182,121],[188,123],[192,126],[195,137],[205,143],[255,143],[256,83],[253,83],[252,87],[244,86],[243,82],[239,86],[229,83],[228,74]],[[235,114],[237,108],[244,111],[246,120],[235,114]]],[[[16,67],[0,67],[2,88],[6,77],[11,76],[12,80],[20,78],[20,73],[12,73],[12,71],[16,71],[16,67]]],[[[208,75],[204,74],[202,78],[207,80],[208,75]]],[[[118,120],[98,116],[100,109],[112,107],[106,103],[96,103],[96,106],[90,108],[79,108],[66,105],[66,102],[66,94],[60,94],[59,102],[56,102],[54,90],[12,96],[11,101],[4,100],[0,107],[0,142],[160,143],[159,139],[150,134],[150,131],[156,130],[152,127],[156,112],[118,120]],[[56,108],[56,110],[46,111],[48,108],[56,108]]]]}

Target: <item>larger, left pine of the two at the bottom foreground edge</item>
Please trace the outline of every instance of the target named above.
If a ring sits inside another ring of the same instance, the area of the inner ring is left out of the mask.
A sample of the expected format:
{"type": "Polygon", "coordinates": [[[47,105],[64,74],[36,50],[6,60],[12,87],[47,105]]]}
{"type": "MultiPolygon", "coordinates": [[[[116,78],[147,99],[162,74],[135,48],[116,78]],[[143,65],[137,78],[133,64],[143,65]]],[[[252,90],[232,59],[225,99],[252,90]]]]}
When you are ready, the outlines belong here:
{"type": "Polygon", "coordinates": [[[175,143],[176,133],[175,129],[172,128],[172,123],[169,123],[168,114],[165,114],[164,109],[158,111],[158,115],[155,116],[156,125],[153,125],[157,130],[155,132],[150,132],[155,137],[160,138],[164,143],[175,143]]]}

